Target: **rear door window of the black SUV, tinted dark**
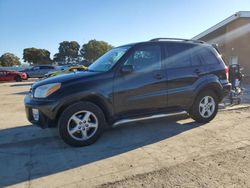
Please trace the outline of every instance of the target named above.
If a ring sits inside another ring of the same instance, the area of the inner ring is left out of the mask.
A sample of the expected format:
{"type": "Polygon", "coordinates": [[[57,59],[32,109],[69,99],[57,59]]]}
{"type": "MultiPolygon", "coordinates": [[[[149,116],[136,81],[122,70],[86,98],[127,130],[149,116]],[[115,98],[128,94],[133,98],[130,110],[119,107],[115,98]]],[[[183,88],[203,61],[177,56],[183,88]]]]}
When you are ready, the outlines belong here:
{"type": "Polygon", "coordinates": [[[182,68],[191,66],[191,52],[192,48],[184,45],[183,43],[168,44],[166,48],[166,67],[182,68]]]}

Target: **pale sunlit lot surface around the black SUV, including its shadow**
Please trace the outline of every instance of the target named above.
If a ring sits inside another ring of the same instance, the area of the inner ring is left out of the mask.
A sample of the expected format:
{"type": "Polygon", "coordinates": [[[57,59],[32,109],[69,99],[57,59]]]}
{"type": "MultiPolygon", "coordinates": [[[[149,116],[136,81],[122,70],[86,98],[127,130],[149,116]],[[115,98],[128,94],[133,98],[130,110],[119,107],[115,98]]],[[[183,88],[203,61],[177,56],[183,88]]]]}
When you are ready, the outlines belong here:
{"type": "Polygon", "coordinates": [[[200,125],[165,118],[65,145],[27,122],[29,82],[0,84],[0,187],[250,187],[250,108],[200,125]]]}

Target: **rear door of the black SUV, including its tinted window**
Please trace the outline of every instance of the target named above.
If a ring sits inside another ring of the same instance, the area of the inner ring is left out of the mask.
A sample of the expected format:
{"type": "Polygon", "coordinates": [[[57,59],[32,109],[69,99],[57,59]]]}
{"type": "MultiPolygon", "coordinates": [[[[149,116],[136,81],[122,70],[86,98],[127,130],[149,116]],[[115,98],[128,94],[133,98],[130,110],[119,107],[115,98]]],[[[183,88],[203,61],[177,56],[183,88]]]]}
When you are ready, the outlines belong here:
{"type": "Polygon", "coordinates": [[[189,104],[199,79],[207,73],[197,56],[199,46],[170,42],[165,45],[168,107],[189,104]]]}

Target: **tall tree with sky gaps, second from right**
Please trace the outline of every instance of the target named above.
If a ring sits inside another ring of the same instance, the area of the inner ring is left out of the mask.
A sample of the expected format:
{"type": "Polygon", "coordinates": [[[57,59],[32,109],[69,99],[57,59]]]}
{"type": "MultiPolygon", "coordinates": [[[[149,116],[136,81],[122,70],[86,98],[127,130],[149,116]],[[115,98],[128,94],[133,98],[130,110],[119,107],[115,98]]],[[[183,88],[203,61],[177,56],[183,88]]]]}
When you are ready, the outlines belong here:
{"type": "Polygon", "coordinates": [[[79,56],[80,45],[76,41],[63,41],[59,43],[59,52],[54,55],[54,61],[74,61],[79,56]]]}

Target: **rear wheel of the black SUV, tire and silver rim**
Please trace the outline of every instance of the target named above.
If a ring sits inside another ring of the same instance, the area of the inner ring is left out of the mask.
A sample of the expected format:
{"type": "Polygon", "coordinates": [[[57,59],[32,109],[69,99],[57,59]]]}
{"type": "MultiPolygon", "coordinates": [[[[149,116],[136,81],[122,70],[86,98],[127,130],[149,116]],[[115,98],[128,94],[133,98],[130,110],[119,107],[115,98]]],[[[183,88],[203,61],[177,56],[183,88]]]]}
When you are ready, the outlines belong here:
{"type": "Polygon", "coordinates": [[[189,115],[198,123],[208,123],[218,112],[218,97],[210,90],[202,91],[195,99],[189,115]],[[206,103],[208,101],[208,103],[206,103]]]}

